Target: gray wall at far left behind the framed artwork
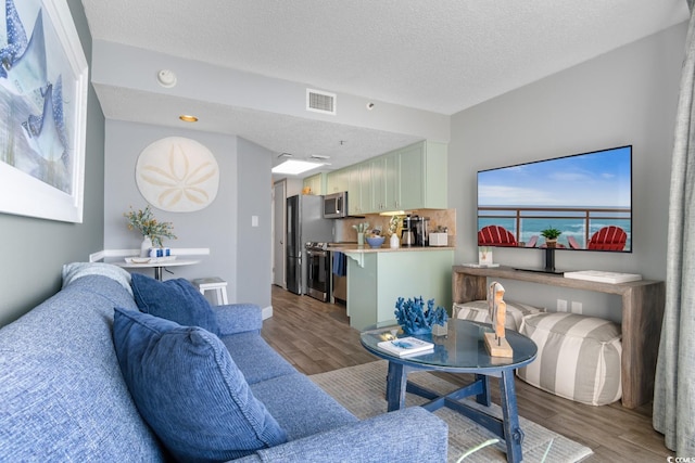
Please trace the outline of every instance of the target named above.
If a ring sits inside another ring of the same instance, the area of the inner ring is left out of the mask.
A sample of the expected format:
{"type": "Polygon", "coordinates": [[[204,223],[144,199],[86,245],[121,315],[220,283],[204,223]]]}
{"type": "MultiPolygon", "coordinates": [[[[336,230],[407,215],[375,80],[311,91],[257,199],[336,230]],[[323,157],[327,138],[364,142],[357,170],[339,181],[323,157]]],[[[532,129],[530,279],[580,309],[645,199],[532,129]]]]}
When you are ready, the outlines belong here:
{"type": "MultiPolygon", "coordinates": [[[[67,0],[87,62],[91,35],[79,0],[67,0]]],[[[60,290],[63,263],[87,260],[103,241],[104,117],[89,87],[83,223],[0,214],[0,326],[60,290]]]]}

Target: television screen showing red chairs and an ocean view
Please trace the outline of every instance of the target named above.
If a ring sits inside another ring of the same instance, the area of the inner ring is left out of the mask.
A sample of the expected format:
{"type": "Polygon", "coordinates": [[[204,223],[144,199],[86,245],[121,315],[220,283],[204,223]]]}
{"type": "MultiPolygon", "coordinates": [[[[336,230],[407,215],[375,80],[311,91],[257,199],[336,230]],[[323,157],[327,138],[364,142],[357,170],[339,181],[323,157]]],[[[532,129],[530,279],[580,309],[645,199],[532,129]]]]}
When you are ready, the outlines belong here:
{"type": "Polygon", "coordinates": [[[478,244],[632,250],[631,146],[478,172],[478,244]]]}

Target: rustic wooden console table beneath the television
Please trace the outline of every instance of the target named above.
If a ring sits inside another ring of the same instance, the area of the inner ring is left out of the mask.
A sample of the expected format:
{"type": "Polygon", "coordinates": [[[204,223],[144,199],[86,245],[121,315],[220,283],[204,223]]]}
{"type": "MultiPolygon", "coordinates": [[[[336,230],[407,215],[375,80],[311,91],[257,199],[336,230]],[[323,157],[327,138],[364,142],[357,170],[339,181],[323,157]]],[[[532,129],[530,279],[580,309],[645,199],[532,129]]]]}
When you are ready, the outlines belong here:
{"type": "Polygon", "coordinates": [[[488,278],[525,281],[573,290],[617,294],[622,298],[622,404],[634,409],[653,399],[656,359],[666,303],[662,281],[599,283],[563,275],[514,270],[508,267],[471,268],[453,266],[454,303],[485,299],[488,278]]]}

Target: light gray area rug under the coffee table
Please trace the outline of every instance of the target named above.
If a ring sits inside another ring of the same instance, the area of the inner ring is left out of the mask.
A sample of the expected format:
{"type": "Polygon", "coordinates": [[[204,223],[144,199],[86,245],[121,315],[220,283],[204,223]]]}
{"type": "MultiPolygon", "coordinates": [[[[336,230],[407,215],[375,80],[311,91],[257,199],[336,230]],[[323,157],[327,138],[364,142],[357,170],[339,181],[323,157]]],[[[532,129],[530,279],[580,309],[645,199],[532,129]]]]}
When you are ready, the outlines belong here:
{"type": "MultiPolygon", "coordinates": [[[[366,419],[387,412],[384,399],[386,360],[365,363],[357,366],[349,366],[327,373],[309,376],[314,383],[330,394],[343,407],[359,419],[366,419]]],[[[456,386],[427,372],[415,372],[408,375],[408,380],[435,390],[446,394],[456,386]]],[[[406,406],[413,407],[425,403],[427,400],[413,394],[406,395],[406,406]]],[[[500,407],[493,404],[494,412],[502,416],[500,407]]],[[[478,426],[467,417],[450,409],[440,409],[435,415],[448,424],[448,461],[456,462],[467,450],[494,438],[488,429],[478,426]]],[[[541,462],[551,440],[549,452],[546,462],[578,462],[590,454],[592,450],[557,433],[544,428],[522,416],[519,416],[521,429],[525,433],[521,445],[525,462],[541,462]]],[[[503,442],[485,447],[472,453],[464,460],[465,463],[480,462],[506,462],[506,453],[503,442]]]]}

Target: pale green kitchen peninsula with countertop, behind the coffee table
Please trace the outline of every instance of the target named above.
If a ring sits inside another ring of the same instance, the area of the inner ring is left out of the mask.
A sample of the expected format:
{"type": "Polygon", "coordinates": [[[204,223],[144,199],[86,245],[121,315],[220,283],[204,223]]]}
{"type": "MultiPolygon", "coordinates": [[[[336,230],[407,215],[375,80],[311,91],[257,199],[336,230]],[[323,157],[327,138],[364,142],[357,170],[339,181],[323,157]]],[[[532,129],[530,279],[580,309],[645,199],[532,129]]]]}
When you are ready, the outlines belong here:
{"type": "Polygon", "coordinates": [[[348,257],[348,316],[357,330],[394,320],[399,297],[434,299],[447,311],[452,306],[454,247],[346,245],[331,250],[348,257]]]}

